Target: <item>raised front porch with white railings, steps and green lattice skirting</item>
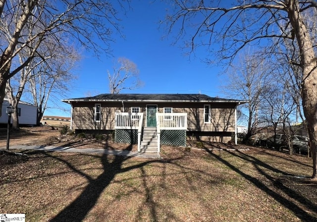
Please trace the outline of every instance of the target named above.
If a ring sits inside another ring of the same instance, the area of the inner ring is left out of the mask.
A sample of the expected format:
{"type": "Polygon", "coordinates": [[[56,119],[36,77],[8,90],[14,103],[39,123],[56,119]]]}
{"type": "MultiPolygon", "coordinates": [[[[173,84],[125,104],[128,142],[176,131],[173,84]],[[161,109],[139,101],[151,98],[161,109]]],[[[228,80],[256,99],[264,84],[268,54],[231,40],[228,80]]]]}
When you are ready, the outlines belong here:
{"type": "Polygon", "coordinates": [[[187,113],[156,113],[147,127],[144,113],[116,113],[115,140],[138,144],[138,152],[160,152],[160,144],[185,145],[187,113]]]}

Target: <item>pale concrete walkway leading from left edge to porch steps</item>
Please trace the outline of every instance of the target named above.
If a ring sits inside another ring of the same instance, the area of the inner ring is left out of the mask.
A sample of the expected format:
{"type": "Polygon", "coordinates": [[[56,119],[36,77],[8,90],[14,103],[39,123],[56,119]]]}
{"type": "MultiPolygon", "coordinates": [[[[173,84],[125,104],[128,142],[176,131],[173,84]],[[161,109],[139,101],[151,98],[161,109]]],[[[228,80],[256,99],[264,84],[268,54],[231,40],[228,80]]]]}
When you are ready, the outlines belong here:
{"type": "MultiPolygon", "coordinates": [[[[0,149],[5,149],[6,147],[0,147],[0,149]]],[[[74,152],[74,153],[100,153],[109,154],[117,156],[129,156],[129,157],[143,157],[143,158],[156,158],[160,159],[159,153],[141,153],[132,152],[128,150],[106,150],[106,149],[92,149],[92,148],[72,148],[72,147],[62,147],[62,146],[36,146],[36,145],[13,145],[9,147],[12,149],[22,149],[22,150],[41,150],[45,152],[50,151],[60,151],[60,152],[74,152]]]]}

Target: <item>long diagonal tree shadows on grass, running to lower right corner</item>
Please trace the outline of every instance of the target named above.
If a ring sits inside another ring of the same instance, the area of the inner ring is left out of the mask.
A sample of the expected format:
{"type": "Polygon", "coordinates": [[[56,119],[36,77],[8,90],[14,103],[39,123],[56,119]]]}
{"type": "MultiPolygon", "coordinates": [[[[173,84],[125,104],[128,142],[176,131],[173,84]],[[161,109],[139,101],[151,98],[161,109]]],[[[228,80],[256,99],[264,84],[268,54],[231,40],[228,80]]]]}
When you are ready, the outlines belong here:
{"type": "Polygon", "coordinates": [[[300,202],[301,205],[304,205],[305,207],[310,209],[310,211],[313,214],[317,215],[317,205],[316,205],[316,203],[313,203],[309,199],[305,198],[304,196],[299,194],[296,190],[292,190],[292,189],[286,187],[283,183],[280,182],[280,180],[278,180],[276,178],[273,178],[269,174],[265,173],[263,169],[266,169],[266,170],[269,170],[269,171],[272,171],[272,172],[275,172],[275,173],[280,173],[280,174],[283,174],[283,175],[289,175],[289,174],[286,174],[283,171],[275,169],[272,166],[262,162],[261,160],[255,158],[253,156],[247,155],[245,153],[242,153],[240,151],[226,151],[226,152],[230,153],[231,155],[233,155],[233,156],[235,156],[237,158],[241,158],[244,161],[252,163],[255,166],[255,168],[258,170],[260,175],[263,175],[265,178],[269,179],[272,182],[273,187],[276,188],[276,190],[273,190],[269,186],[265,185],[258,178],[255,178],[253,176],[250,176],[250,175],[242,172],[240,169],[238,169],[237,167],[235,167],[234,165],[232,165],[228,161],[226,161],[223,158],[221,158],[220,156],[212,153],[212,151],[208,151],[208,152],[215,159],[219,160],[224,165],[228,166],[234,172],[240,174],[242,177],[244,177],[245,179],[250,181],[256,187],[258,187],[261,190],[263,190],[266,194],[268,194],[271,197],[273,197],[282,206],[284,206],[285,208],[287,208],[290,211],[292,211],[298,218],[301,219],[301,221],[303,221],[303,222],[314,222],[314,221],[317,221],[316,217],[312,216],[306,210],[304,210],[300,206],[298,206],[295,203],[295,201],[300,202]],[[236,152],[238,152],[239,155],[236,152]],[[289,200],[288,198],[284,197],[281,193],[286,194],[288,197],[292,198],[294,200],[294,202],[289,200]]]}

